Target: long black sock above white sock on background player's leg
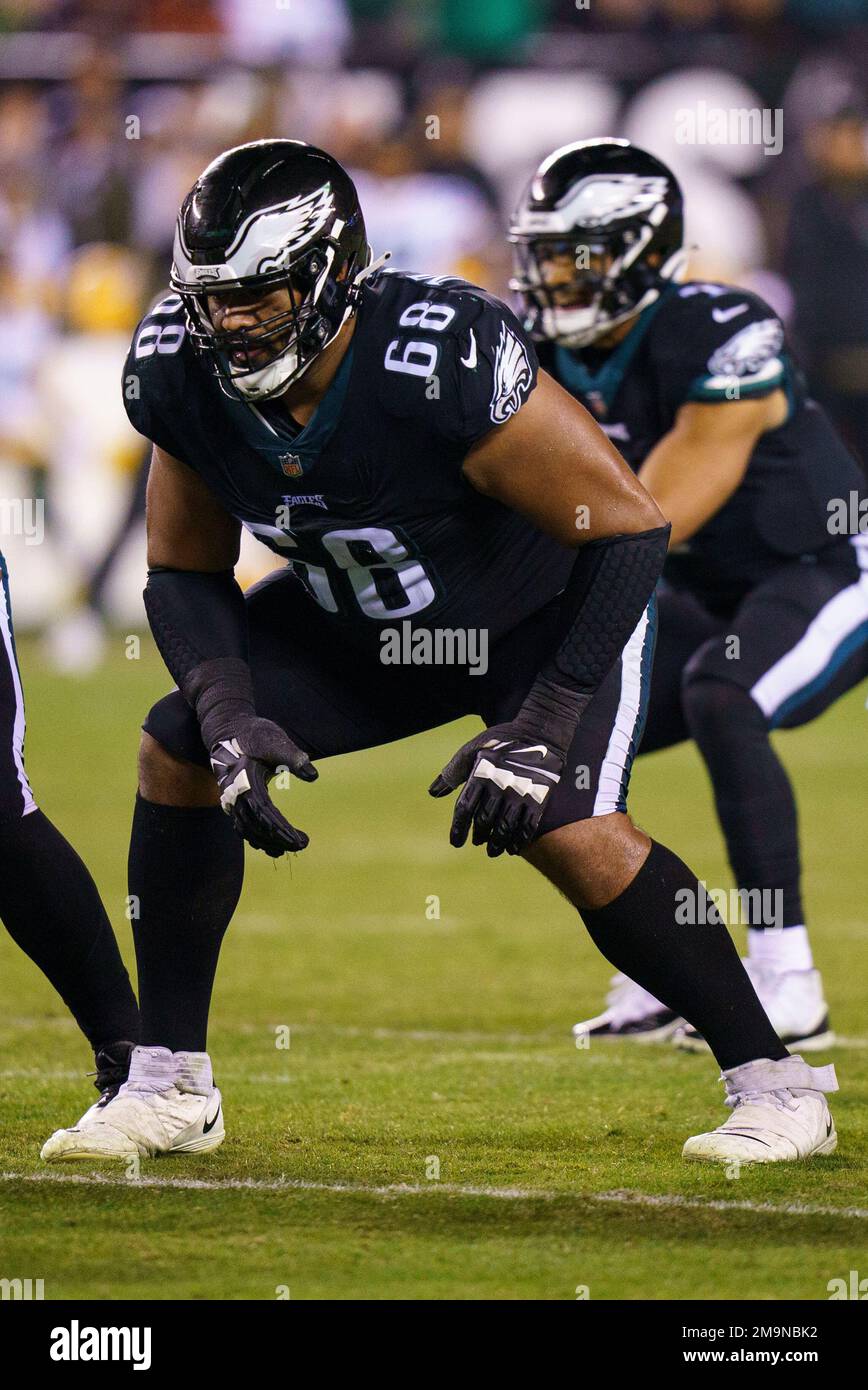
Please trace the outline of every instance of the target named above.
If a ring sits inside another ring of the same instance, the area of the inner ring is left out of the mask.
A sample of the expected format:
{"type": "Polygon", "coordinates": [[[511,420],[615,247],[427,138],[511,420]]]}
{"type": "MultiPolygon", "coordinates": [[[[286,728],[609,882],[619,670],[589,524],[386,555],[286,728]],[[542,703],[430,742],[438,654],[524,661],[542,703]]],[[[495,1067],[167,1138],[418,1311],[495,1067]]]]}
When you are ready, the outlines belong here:
{"type": "Polygon", "coordinates": [[[773,894],[768,902],[758,895],[764,910],[773,912],[773,924],[803,923],[796,798],[765,714],[741,687],[709,677],[689,681],[683,702],[708,767],[736,883],[747,892],[773,894]]]}

